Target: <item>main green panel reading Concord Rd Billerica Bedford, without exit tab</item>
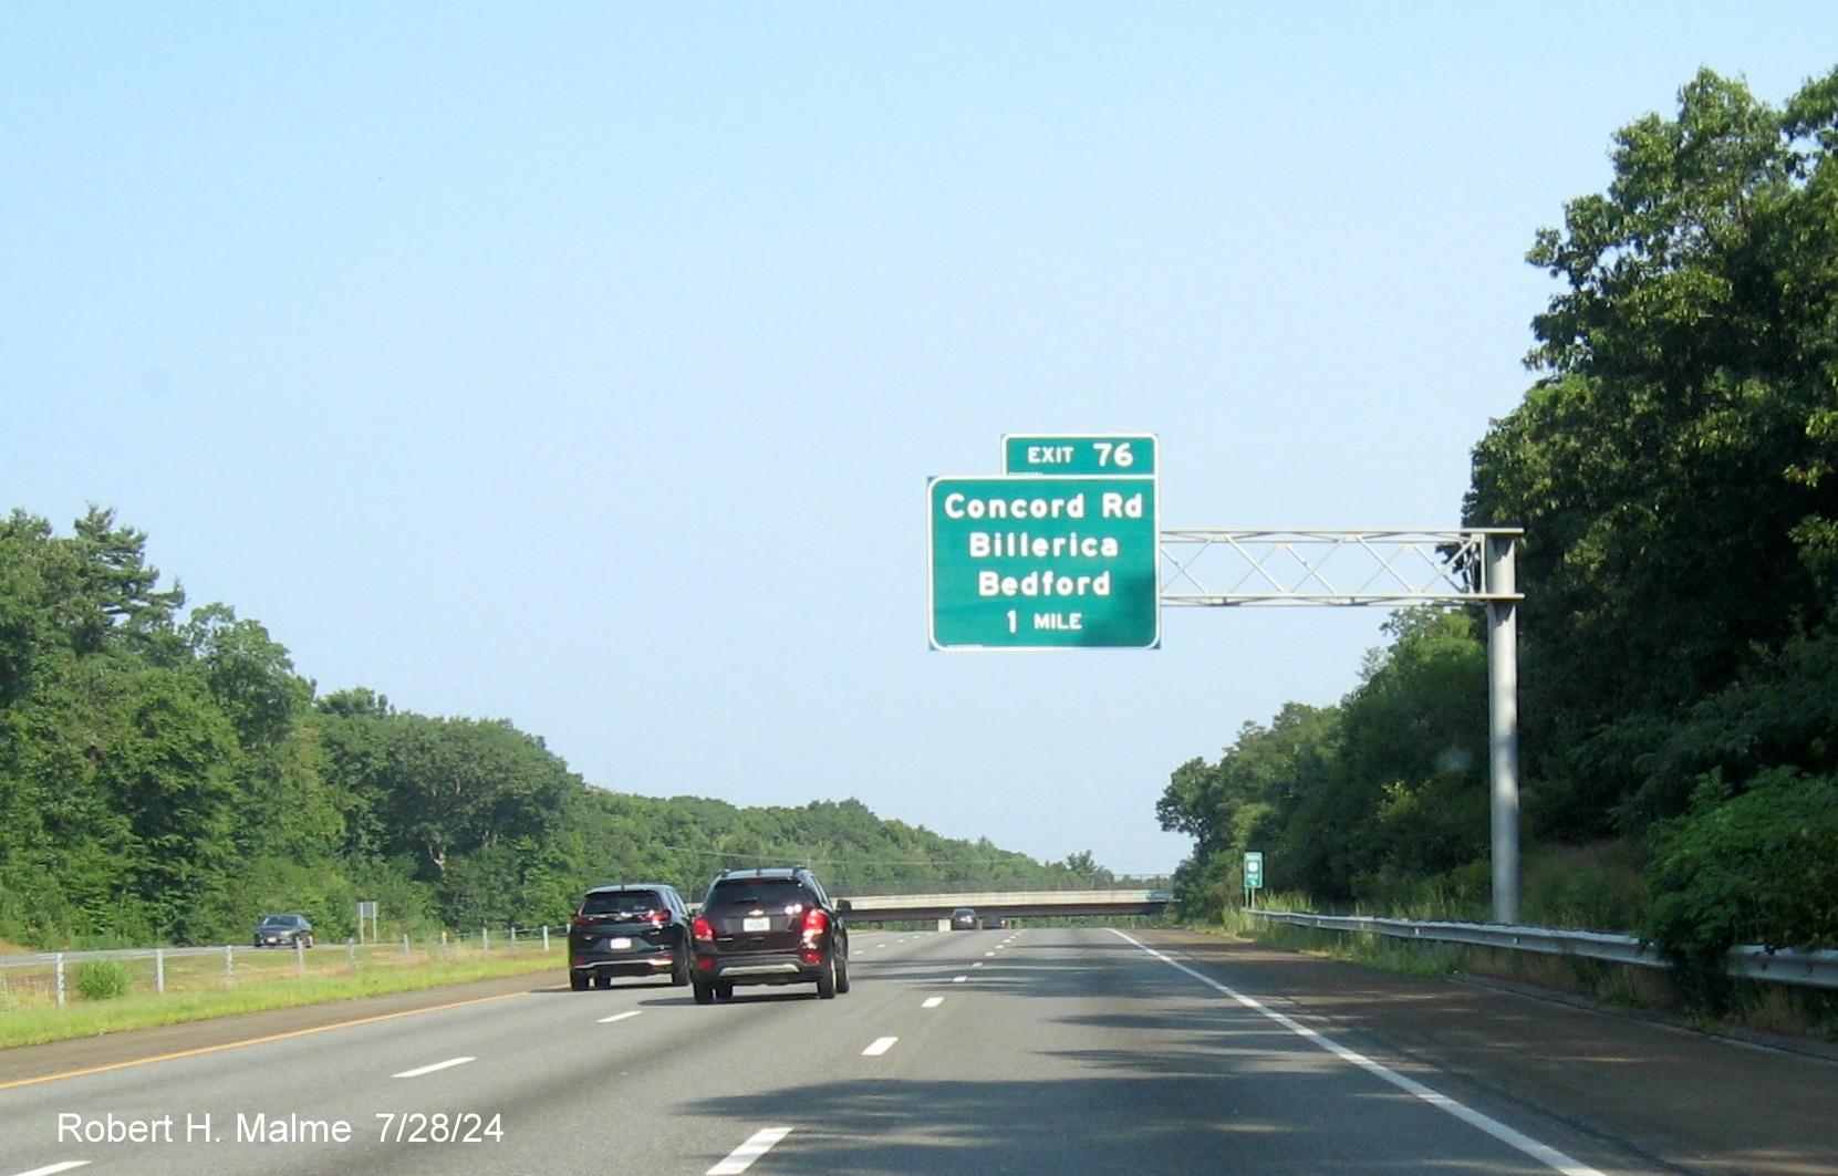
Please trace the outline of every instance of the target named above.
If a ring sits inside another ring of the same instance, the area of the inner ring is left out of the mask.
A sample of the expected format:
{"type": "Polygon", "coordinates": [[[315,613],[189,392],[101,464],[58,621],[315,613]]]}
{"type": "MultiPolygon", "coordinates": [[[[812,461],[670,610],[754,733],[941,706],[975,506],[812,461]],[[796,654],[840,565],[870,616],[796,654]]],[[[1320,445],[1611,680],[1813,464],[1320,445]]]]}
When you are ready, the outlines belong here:
{"type": "Polygon", "coordinates": [[[1154,478],[934,478],[932,649],[1154,649],[1154,478]]]}

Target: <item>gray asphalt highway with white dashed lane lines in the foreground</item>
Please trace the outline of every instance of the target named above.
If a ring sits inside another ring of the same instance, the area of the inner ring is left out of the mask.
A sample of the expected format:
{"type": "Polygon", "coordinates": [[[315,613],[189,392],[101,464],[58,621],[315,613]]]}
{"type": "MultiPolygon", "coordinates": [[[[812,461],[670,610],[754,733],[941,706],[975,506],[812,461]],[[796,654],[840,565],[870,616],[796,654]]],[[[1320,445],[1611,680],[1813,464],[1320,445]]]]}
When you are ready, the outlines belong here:
{"type": "Polygon", "coordinates": [[[851,972],[4,1051],[0,1176],[1838,1172],[1832,1062],[1516,992],[1097,928],[858,933],[851,972]]]}

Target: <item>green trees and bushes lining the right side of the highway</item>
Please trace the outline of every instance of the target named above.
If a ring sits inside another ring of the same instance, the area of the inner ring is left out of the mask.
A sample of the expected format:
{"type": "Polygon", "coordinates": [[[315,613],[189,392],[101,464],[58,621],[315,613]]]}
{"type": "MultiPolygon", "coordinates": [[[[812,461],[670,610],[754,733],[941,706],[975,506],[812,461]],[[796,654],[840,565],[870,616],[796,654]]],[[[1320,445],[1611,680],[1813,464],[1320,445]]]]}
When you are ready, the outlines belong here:
{"type": "MultiPolygon", "coordinates": [[[[1612,847],[1674,959],[1838,946],[1838,70],[1781,107],[1702,70],[1614,134],[1605,193],[1527,261],[1559,279],[1535,382],[1474,447],[1467,526],[1522,526],[1527,862],[1612,847]]],[[[1182,895],[1239,854],[1320,902],[1485,910],[1478,612],[1388,625],[1333,706],[1176,768],[1182,895]]],[[[1527,900],[1531,895],[1527,893],[1527,900]]],[[[1612,930],[1612,928],[1605,928],[1612,930]]]]}

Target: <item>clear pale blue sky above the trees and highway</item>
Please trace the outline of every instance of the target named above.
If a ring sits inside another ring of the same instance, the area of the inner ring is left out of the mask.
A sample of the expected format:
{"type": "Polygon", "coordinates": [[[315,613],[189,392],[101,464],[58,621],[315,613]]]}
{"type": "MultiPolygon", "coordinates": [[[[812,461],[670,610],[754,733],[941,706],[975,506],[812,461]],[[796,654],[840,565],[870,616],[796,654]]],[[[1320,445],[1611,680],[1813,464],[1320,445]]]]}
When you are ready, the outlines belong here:
{"type": "Polygon", "coordinates": [[[1173,869],[1380,612],[926,647],[926,478],[1160,435],[1165,527],[1448,527],[1524,263],[1820,4],[0,4],[0,509],[590,783],[1173,869]]]}

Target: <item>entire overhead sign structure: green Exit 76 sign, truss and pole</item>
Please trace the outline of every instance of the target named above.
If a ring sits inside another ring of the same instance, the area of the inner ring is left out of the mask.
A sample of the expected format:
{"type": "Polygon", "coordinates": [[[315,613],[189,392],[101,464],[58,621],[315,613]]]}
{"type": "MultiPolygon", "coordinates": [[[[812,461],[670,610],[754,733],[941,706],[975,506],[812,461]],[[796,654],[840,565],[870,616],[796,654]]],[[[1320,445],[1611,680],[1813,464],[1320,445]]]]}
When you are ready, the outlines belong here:
{"type": "Polygon", "coordinates": [[[1162,606],[1485,605],[1492,910],[1518,922],[1518,527],[1160,526],[1154,434],[1011,434],[1002,476],[934,478],[939,650],[1156,649],[1162,606]]]}

